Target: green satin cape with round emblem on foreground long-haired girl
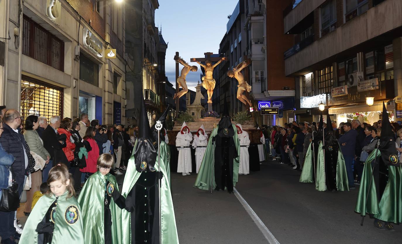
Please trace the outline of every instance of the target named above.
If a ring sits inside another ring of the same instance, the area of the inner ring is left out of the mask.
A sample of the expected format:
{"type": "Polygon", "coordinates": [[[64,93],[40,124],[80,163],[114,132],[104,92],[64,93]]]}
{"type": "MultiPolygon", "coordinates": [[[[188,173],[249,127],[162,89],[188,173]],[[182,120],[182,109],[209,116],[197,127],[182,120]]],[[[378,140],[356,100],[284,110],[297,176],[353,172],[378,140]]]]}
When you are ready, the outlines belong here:
{"type": "MultiPolygon", "coordinates": [[[[67,198],[68,192],[66,191],[62,196],[57,199],[57,208],[55,215],[55,224],[53,231],[53,244],[84,244],[83,233],[83,218],[80,205],[78,205],[77,199],[73,196],[67,198]],[[66,221],[66,210],[73,205],[78,213],[78,219],[75,223],[69,224],[66,221]]],[[[35,204],[29,215],[27,222],[24,225],[24,230],[21,235],[19,243],[22,244],[38,244],[38,233],[36,227],[38,223],[42,221],[43,217],[49,210],[50,205],[56,200],[56,196],[43,195],[35,204]]],[[[0,220],[1,221],[1,220],[0,220]]]]}

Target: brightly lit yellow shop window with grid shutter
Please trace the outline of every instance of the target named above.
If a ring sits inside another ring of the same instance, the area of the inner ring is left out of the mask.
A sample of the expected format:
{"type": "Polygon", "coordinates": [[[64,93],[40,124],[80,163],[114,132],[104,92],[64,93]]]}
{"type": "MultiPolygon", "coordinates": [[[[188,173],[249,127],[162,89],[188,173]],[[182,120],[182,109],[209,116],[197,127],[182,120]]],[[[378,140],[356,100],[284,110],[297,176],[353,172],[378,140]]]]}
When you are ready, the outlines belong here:
{"type": "Polygon", "coordinates": [[[63,89],[40,81],[22,77],[21,79],[21,116],[51,116],[63,118],[63,89]]]}

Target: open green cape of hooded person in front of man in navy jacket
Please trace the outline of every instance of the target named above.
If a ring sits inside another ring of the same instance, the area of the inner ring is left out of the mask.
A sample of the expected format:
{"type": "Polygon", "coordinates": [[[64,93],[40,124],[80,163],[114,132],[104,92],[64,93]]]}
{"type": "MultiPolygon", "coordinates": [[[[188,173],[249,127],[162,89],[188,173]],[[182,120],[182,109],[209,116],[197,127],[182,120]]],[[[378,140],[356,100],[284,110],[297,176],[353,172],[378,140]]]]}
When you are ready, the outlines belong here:
{"type": "MultiPolygon", "coordinates": [[[[325,191],[327,189],[325,180],[324,150],[322,150],[321,142],[320,145],[318,145],[316,190],[325,191]]],[[[340,151],[340,147],[338,147],[338,160],[336,161],[336,188],[339,191],[349,191],[345,159],[340,151]]]]}

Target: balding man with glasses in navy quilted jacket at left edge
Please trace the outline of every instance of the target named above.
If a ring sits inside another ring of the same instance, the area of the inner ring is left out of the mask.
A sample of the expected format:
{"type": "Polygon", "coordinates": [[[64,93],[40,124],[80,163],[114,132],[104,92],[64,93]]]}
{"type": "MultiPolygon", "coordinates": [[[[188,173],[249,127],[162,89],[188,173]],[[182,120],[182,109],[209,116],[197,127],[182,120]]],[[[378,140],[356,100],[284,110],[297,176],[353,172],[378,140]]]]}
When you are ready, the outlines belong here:
{"type": "MultiPolygon", "coordinates": [[[[26,169],[28,166],[28,155],[24,136],[21,134],[20,125],[22,117],[16,110],[8,110],[4,114],[3,133],[0,143],[7,153],[11,154],[15,160],[11,168],[14,180],[18,184],[18,193],[21,194],[24,188],[26,169]]],[[[0,237],[2,242],[13,243],[14,238],[19,239],[14,227],[15,211],[0,211],[0,237]]]]}

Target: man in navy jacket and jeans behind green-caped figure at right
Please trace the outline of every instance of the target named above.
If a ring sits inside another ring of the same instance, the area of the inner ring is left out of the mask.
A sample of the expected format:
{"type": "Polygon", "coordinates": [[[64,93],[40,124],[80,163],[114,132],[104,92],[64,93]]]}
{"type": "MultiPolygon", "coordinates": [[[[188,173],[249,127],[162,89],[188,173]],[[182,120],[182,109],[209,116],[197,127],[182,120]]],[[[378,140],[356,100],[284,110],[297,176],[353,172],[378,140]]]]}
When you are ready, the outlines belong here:
{"type": "Polygon", "coordinates": [[[346,171],[348,174],[349,189],[355,189],[355,179],[353,178],[353,160],[355,159],[357,131],[352,129],[352,124],[347,122],[343,126],[345,134],[338,140],[340,150],[345,158],[346,171]]]}

